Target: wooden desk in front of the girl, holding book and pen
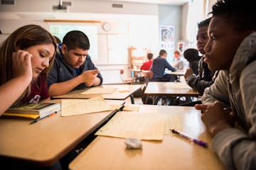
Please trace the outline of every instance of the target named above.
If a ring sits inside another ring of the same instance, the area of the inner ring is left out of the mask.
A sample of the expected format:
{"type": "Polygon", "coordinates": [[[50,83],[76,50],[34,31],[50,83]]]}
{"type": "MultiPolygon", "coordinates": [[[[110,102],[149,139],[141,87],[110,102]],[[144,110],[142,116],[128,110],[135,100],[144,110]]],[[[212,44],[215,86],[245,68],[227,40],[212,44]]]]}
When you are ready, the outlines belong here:
{"type": "MultiPolygon", "coordinates": [[[[121,106],[124,101],[107,103],[121,106]]],[[[106,111],[62,117],[59,112],[32,125],[29,124],[31,119],[1,117],[0,159],[9,158],[35,166],[51,166],[112,115],[113,111],[106,111]]]]}

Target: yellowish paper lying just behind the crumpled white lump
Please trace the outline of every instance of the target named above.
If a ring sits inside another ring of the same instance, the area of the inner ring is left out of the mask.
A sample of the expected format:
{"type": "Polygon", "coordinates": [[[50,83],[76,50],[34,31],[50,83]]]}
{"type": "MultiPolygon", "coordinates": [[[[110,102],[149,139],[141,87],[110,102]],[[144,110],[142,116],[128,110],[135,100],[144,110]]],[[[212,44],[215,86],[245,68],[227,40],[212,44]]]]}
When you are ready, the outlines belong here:
{"type": "Polygon", "coordinates": [[[95,135],[163,140],[164,117],[156,113],[118,112],[95,135]]]}

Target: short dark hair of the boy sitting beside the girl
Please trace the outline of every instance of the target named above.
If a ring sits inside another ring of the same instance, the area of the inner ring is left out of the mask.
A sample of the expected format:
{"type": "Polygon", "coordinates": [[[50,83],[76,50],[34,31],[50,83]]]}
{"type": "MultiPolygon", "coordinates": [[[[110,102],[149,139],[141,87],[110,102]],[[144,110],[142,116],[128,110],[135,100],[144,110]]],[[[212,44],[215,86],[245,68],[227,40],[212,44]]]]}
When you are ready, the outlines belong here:
{"type": "Polygon", "coordinates": [[[68,47],[68,50],[75,50],[80,48],[82,50],[90,49],[90,42],[85,33],[80,30],[72,30],[68,32],[63,38],[63,44],[68,47]]]}

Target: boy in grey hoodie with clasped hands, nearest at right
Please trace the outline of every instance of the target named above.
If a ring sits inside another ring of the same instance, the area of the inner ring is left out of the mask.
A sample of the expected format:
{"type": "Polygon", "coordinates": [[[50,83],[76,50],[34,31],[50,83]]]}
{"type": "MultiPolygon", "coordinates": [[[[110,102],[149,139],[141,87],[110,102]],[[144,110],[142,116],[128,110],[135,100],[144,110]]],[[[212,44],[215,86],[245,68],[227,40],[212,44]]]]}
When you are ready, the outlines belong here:
{"type": "Polygon", "coordinates": [[[220,73],[196,109],[226,168],[256,169],[255,1],[217,1],[212,9],[205,62],[220,73]]]}

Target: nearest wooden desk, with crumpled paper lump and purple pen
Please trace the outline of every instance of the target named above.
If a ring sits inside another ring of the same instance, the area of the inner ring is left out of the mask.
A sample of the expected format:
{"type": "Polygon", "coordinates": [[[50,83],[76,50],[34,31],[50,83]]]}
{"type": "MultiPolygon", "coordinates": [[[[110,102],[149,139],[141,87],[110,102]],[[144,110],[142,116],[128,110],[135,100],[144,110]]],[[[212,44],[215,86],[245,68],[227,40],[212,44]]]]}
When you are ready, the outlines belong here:
{"type": "MultiPolygon", "coordinates": [[[[193,107],[182,106],[140,106],[139,112],[169,113],[181,116],[176,124],[183,132],[200,140],[210,142],[212,138],[201,122],[201,113],[193,107]]],[[[72,170],[83,169],[225,169],[211,149],[194,145],[182,137],[164,135],[164,140],[142,141],[142,149],[126,149],[125,139],[98,136],[88,145],[69,167],[72,170]]]]}

